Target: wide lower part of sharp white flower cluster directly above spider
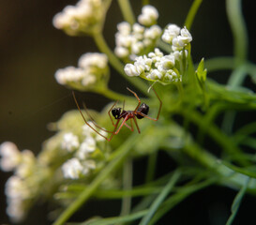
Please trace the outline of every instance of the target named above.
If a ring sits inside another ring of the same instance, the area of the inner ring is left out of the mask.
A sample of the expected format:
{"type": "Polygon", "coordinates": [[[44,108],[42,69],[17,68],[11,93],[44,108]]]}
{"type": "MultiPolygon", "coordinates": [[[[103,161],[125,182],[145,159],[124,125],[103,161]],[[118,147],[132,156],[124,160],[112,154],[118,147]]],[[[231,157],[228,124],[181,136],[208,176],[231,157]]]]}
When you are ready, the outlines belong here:
{"type": "Polygon", "coordinates": [[[155,49],[147,56],[137,57],[134,64],[127,64],[125,72],[129,77],[141,76],[152,82],[182,82],[182,74],[177,69],[182,64],[182,58],[182,52],[164,55],[155,49]]]}

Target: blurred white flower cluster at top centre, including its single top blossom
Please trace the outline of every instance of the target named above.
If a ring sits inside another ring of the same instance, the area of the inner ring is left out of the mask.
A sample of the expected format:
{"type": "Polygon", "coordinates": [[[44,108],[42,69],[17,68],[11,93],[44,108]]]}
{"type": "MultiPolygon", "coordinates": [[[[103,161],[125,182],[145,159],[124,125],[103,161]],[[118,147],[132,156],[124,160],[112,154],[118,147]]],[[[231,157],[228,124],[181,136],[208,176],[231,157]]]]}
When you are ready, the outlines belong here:
{"type": "Polygon", "coordinates": [[[143,13],[138,17],[141,24],[118,23],[118,32],[115,34],[115,54],[119,58],[132,60],[137,55],[150,51],[161,35],[161,28],[155,24],[157,19],[158,10],[152,6],[145,6],[143,13]]]}

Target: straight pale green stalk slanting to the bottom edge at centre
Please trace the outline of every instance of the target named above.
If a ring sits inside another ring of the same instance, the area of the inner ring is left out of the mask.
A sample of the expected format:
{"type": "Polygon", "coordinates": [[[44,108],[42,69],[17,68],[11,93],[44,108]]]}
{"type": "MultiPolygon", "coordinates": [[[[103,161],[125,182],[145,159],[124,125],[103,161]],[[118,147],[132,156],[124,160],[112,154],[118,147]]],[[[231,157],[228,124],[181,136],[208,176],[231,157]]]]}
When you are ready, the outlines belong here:
{"type": "Polygon", "coordinates": [[[173,173],[172,178],[167,183],[167,185],[162,189],[162,191],[159,193],[158,198],[152,203],[152,205],[149,208],[148,213],[143,217],[142,221],[140,222],[140,225],[146,225],[150,221],[150,219],[154,216],[156,211],[158,210],[158,207],[160,204],[164,201],[164,199],[167,197],[167,195],[172,190],[173,186],[181,176],[181,172],[177,170],[175,173],[173,173]]]}

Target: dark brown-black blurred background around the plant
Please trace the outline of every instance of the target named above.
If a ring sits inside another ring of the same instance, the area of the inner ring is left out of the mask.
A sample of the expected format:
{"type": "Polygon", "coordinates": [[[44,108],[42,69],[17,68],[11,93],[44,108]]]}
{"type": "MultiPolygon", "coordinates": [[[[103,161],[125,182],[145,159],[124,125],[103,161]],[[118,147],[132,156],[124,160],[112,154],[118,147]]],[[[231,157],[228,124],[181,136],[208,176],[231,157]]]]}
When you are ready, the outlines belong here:
{"type": "MultiPolygon", "coordinates": [[[[53,132],[47,129],[47,124],[58,120],[68,110],[76,108],[70,90],[55,82],[54,72],[60,67],[77,66],[78,59],[84,52],[98,52],[98,49],[92,38],[68,37],[62,31],[56,30],[52,23],[53,16],[57,12],[76,2],[74,0],[0,1],[0,143],[10,141],[16,143],[21,150],[31,149],[37,154],[41,143],[53,135],[53,132]]],[[[136,16],[139,15],[140,1],[131,2],[136,16]]],[[[167,23],[177,23],[182,26],[191,3],[192,0],[151,1],[151,4],[158,8],[160,14],[158,23],[161,27],[167,23]]],[[[104,36],[113,48],[113,36],[116,31],[116,26],[113,24],[122,22],[123,18],[116,1],[113,0],[110,10],[104,36]]],[[[249,59],[255,62],[254,1],[245,0],[243,11],[248,25],[249,59]]],[[[195,18],[191,34],[192,56],[195,62],[202,57],[207,59],[232,55],[233,38],[225,12],[225,1],[204,0],[195,18]]],[[[229,72],[225,71],[209,74],[209,77],[224,83],[228,75],[229,72]]],[[[125,87],[128,86],[128,82],[112,70],[110,86],[116,91],[126,93],[125,87]]],[[[83,100],[89,108],[97,110],[102,109],[109,101],[92,93],[84,93],[83,100]]],[[[9,223],[5,213],[4,195],[4,186],[9,175],[11,173],[0,172],[0,223],[9,223]]],[[[172,224],[188,224],[188,221],[189,224],[221,224],[210,219],[218,218],[213,214],[213,210],[219,209],[219,213],[223,214],[224,218],[227,217],[225,215],[229,215],[234,195],[234,191],[225,188],[205,189],[180,204],[168,219],[173,221],[172,224]],[[220,197],[212,197],[209,194],[214,192],[218,192],[220,197]],[[223,201],[223,196],[226,201],[223,201]],[[202,207],[194,209],[193,203],[199,205],[201,201],[202,207]],[[187,220],[181,215],[187,215],[187,220]]],[[[253,213],[251,215],[251,211],[249,213],[246,208],[247,203],[252,205],[256,200],[247,197],[244,202],[240,215],[241,218],[242,215],[243,218],[248,218],[249,222],[243,224],[255,224],[253,213]]],[[[41,217],[44,216],[42,212],[41,217]]],[[[37,224],[45,224],[45,221],[46,219],[42,219],[37,224]]]]}

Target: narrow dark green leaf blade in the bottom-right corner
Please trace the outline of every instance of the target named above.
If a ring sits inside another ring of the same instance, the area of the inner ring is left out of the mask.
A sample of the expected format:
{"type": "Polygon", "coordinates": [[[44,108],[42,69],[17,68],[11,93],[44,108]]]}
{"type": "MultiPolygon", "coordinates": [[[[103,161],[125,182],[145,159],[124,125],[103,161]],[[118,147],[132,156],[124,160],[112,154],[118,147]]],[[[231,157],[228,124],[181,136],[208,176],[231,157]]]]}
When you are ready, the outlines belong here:
{"type": "Polygon", "coordinates": [[[231,216],[230,218],[228,219],[226,225],[231,225],[233,223],[233,219],[235,218],[236,214],[237,214],[237,211],[239,209],[239,206],[243,200],[243,197],[247,191],[247,188],[248,188],[248,182],[249,182],[249,178],[248,180],[245,182],[243,188],[241,188],[239,190],[239,192],[237,193],[237,195],[234,197],[233,199],[233,204],[231,206],[231,216]]]}

